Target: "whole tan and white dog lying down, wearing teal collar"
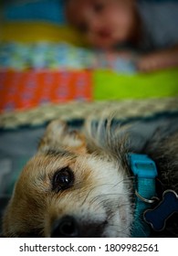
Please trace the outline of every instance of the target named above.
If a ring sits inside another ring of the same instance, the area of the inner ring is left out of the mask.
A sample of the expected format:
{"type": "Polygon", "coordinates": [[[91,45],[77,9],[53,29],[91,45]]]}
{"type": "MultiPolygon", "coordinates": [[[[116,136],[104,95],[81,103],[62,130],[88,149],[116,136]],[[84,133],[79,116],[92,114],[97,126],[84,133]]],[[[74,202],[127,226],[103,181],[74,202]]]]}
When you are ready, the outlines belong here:
{"type": "Polygon", "coordinates": [[[165,130],[134,146],[131,126],[112,118],[89,118],[79,131],[49,123],[16,182],[3,236],[178,237],[178,131],[165,130]]]}

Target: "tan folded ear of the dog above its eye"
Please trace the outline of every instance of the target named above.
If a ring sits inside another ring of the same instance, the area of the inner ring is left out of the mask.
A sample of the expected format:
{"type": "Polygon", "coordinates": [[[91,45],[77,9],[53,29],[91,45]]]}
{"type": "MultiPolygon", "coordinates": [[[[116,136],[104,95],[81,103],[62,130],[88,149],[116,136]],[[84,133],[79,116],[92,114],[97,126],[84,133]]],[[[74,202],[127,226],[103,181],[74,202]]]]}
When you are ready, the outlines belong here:
{"type": "Polygon", "coordinates": [[[70,152],[86,153],[85,136],[77,131],[69,131],[65,122],[53,121],[48,124],[46,133],[38,145],[38,151],[64,149],[70,152]]]}

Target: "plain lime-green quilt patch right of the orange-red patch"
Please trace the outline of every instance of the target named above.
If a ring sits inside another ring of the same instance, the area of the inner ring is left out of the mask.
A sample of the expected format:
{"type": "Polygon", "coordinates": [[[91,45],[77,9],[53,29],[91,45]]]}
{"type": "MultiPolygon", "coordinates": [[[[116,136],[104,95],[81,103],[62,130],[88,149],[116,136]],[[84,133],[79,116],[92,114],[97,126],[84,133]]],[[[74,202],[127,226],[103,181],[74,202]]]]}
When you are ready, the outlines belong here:
{"type": "Polygon", "coordinates": [[[95,100],[178,96],[178,69],[131,75],[97,70],[93,76],[95,100]]]}

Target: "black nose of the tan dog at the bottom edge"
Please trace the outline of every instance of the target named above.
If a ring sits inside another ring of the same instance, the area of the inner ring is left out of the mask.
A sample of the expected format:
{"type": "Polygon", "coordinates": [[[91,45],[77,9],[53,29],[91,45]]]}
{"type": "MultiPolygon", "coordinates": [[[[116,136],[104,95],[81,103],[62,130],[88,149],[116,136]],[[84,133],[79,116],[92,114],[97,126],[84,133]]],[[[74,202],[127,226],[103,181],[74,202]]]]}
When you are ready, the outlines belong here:
{"type": "Polygon", "coordinates": [[[65,216],[54,222],[52,238],[78,238],[79,227],[77,221],[71,216],[65,216]]]}

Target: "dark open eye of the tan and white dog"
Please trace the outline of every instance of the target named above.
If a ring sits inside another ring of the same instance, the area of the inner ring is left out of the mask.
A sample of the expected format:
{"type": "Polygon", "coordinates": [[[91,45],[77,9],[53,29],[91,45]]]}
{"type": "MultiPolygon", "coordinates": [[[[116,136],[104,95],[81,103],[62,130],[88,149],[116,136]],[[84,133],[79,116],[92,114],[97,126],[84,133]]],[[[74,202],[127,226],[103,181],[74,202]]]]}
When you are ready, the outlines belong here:
{"type": "Polygon", "coordinates": [[[52,190],[58,193],[71,187],[74,181],[74,175],[69,167],[62,168],[53,176],[52,190]]]}

